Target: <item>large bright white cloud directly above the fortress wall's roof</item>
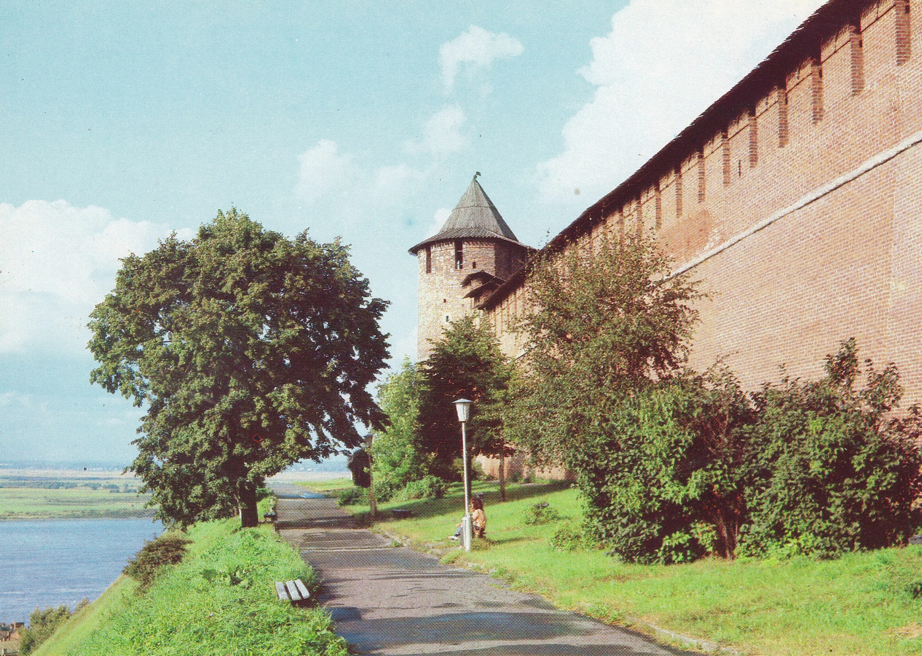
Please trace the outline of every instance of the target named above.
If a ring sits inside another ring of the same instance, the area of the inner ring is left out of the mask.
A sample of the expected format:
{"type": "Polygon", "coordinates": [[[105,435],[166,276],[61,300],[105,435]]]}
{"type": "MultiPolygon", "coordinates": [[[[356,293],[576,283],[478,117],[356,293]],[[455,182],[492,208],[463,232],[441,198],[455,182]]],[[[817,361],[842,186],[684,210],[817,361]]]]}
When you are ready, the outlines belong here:
{"type": "Polygon", "coordinates": [[[564,126],[561,155],[538,165],[545,199],[609,192],[822,4],[632,0],[592,40],[580,74],[596,93],[564,126]]]}

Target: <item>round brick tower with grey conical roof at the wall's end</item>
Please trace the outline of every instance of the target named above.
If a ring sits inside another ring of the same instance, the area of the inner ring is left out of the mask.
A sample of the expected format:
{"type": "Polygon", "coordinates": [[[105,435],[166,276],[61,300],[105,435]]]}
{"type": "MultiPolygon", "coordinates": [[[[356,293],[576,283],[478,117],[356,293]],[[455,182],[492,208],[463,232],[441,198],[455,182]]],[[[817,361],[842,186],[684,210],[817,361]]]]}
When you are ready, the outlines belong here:
{"type": "Polygon", "coordinates": [[[475,175],[438,234],[409,250],[420,265],[420,361],[448,322],[475,310],[532,251],[515,238],[475,175]]]}

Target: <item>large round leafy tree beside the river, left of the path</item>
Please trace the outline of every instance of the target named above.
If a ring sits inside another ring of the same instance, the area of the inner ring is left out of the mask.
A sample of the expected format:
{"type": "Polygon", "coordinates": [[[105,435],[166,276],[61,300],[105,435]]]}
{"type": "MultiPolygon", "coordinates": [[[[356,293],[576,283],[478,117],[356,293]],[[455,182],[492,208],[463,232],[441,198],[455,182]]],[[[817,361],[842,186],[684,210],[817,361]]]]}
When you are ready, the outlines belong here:
{"type": "Polygon", "coordinates": [[[356,423],[383,419],[366,388],[385,307],[338,240],[288,240],[236,209],[124,258],[90,314],[90,381],[146,407],[130,469],[160,519],[255,525],[266,476],[358,446],[356,423]]]}

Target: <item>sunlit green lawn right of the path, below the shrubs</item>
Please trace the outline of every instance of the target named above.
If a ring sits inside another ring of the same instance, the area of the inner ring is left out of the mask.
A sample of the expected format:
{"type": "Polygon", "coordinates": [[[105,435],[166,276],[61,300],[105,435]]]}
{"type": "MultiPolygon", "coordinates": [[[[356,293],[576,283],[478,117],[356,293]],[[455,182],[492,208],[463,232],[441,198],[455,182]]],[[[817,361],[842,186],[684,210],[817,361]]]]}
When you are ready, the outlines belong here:
{"type": "Polygon", "coordinates": [[[922,653],[920,546],[825,561],[705,558],[688,565],[629,565],[597,549],[550,547],[549,537],[561,521],[581,520],[577,492],[566,484],[510,485],[504,504],[497,487],[474,484],[484,493],[488,539],[475,540],[470,553],[446,539],[464,512],[461,486],[443,499],[380,504],[382,511],[403,508],[413,514],[390,520],[382,512],[384,520],[375,528],[405,536],[414,547],[443,555],[443,562],[493,570],[515,589],[616,624],[630,626],[640,619],[773,656],[922,653]],[[526,509],[539,501],[548,501],[561,520],[527,525],[526,509]]]}

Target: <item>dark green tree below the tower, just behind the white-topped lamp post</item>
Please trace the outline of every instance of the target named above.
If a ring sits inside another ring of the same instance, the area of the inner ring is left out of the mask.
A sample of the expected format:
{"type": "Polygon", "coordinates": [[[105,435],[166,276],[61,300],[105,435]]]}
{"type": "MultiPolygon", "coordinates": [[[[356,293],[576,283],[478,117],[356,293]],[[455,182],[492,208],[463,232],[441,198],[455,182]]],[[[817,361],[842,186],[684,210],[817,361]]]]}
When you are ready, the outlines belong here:
{"type": "Polygon", "coordinates": [[[474,401],[467,427],[469,455],[510,454],[500,410],[513,369],[489,327],[470,316],[449,323],[421,368],[420,438],[423,448],[435,456],[432,467],[437,474],[453,477],[452,462],[462,454],[454,404],[462,397],[474,401]]]}

